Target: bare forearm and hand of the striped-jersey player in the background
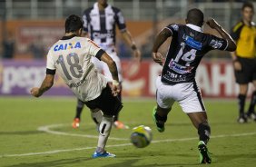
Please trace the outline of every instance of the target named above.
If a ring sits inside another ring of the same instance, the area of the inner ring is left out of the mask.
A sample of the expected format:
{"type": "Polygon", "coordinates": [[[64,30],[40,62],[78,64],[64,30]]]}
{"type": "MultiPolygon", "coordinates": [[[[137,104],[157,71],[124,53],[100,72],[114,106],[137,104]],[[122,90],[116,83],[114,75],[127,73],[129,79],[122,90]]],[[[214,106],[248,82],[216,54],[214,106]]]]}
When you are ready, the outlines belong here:
{"type": "Polygon", "coordinates": [[[141,51],[138,49],[138,47],[136,46],[132,34],[126,30],[122,32],[122,36],[123,36],[123,40],[125,41],[126,44],[129,44],[129,46],[132,48],[133,50],[133,56],[138,59],[139,61],[142,61],[142,54],[141,51]]]}

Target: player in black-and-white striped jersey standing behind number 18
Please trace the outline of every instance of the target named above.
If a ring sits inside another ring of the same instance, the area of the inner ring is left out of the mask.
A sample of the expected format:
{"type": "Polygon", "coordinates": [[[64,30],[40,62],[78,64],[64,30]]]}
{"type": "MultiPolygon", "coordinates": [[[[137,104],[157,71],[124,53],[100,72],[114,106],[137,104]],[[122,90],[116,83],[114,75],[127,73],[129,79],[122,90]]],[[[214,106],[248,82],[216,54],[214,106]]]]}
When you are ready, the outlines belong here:
{"type": "MultiPolygon", "coordinates": [[[[117,66],[119,80],[122,83],[122,68],[120,58],[116,54],[115,49],[115,25],[121,32],[123,40],[131,47],[133,50],[133,56],[137,59],[141,59],[141,53],[137,49],[133,38],[129,31],[126,29],[124,18],[120,9],[107,4],[107,0],[98,0],[94,3],[93,7],[90,7],[84,11],[84,34],[89,36],[96,44],[98,44],[107,54],[109,54],[117,66]]],[[[112,75],[107,67],[107,64],[100,62],[96,58],[92,58],[93,63],[96,68],[103,72],[103,74],[112,81],[112,75]]],[[[122,89],[121,89],[122,90],[122,89]]],[[[122,93],[118,94],[119,99],[122,101],[122,93]]],[[[76,105],[76,114],[74,117],[73,127],[79,127],[81,121],[81,113],[83,111],[84,103],[79,101],[76,105]]],[[[92,118],[95,123],[100,123],[101,111],[92,113],[92,118]]],[[[118,113],[114,115],[114,126],[118,129],[125,129],[128,126],[124,125],[118,120],[118,113]]]]}

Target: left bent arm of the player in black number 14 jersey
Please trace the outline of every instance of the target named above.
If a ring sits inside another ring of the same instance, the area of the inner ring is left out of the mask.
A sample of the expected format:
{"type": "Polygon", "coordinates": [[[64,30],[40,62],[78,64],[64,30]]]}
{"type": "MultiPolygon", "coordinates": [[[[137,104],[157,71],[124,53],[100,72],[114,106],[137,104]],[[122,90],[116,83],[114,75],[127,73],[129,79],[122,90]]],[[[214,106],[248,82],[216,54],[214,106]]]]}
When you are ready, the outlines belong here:
{"type": "Polygon", "coordinates": [[[162,31],[156,36],[156,39],[153,43],[153,61],[157,64],[162,65],[162,54],[158,53],[159,47],[166,41],[168,37],[172,36],[172,33],[170,30],[164,28],[162,31]]]}

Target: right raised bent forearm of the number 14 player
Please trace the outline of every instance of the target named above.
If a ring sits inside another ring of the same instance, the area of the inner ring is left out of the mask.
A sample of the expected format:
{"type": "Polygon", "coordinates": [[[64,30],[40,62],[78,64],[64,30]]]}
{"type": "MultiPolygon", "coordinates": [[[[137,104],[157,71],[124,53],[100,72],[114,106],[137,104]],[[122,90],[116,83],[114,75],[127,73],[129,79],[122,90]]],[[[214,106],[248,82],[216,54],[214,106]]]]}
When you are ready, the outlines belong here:
{"type": "Polygon", "coordinates": [[[231,35],[228,34],[221,25],[219,25],[213,18],[209,19],[206,22],[207,25],[209,25],[212,29],[215,29],[219,34],[222,35],[222,38],[227,40],[229,45],[227,47],[227,51],[233,52],[236,50],[236,44],[234,40],[231,38],[231,35]]]}

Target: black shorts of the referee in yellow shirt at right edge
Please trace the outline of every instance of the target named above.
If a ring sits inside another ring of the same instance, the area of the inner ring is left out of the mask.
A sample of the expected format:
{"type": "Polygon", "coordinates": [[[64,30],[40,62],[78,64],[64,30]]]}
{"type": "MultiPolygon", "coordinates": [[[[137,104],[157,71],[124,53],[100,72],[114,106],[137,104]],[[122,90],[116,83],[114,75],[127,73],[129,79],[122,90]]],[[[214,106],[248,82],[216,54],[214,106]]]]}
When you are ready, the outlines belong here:
{"type": "Polygon", "coordinates": [[[248,59],[238,56],[241,71],[234,71],[236,83],[245,84],[256,80],[256,58],[248,59]]]}

